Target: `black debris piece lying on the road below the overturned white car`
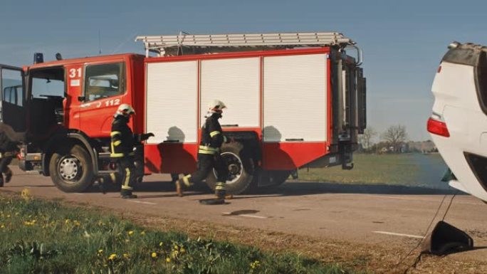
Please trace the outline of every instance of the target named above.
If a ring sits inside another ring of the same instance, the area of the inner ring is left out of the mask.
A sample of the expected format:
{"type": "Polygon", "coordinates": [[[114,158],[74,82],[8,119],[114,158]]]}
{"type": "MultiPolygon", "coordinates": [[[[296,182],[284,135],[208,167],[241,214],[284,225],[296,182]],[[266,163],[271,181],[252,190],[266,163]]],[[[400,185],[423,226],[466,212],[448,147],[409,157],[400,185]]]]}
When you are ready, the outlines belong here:
{"type": "Polygon", "coordinates": [[[431,234],[426,237],[421,253],[447,255],[471,249],[473,249],[473,239],[467,233],[445,221],[439,221],[431,234]]]}

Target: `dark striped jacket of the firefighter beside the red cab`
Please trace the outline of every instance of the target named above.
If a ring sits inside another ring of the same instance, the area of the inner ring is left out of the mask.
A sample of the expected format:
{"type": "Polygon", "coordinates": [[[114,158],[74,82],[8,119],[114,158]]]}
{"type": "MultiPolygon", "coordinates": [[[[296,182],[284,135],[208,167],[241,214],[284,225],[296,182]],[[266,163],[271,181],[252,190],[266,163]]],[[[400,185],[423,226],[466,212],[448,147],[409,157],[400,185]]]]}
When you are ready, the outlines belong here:
{"type": "Polygon", "coordinates": [[[112,154],[110,157],[125,157],[134,155],[134,134],[127,125],[129,118],[117,115],[112,122],[112,154]]]}

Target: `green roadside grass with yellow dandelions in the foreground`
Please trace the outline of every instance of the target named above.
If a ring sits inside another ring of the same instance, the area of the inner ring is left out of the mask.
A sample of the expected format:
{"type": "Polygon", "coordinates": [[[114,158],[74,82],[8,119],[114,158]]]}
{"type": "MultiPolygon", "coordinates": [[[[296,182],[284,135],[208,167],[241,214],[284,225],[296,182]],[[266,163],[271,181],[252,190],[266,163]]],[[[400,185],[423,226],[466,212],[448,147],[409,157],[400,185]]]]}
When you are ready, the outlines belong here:
{"type": "Polygon", "coordinates": [[[0,194],[0,273],[357,273],[292,253],[266,253],[152,231],[98,211],[0,194]]]}

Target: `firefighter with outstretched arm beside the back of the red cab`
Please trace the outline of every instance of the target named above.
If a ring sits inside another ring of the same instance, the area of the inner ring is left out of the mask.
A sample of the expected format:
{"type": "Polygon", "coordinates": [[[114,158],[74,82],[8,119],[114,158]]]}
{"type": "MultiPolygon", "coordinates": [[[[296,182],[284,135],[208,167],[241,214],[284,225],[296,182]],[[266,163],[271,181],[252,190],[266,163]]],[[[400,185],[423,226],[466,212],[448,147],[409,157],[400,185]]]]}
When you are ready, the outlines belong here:
{"type": "MultiPolygon", "coordinates": [[[[112,122],[112,137],[110,157],[117,162],[120,172],[122,174],[122,189],[120,195],[123,199],[135,199],[137,195],[132,194],[135,180],[137,179],[137,172],[134,164],[134,144],[136,137],[128,126],[130,117],[135,115],[135,110],[131,105],[122,104],[115,112],[112,122]]],[[[145,140],[151,136],[152,133],[140,135],[140,140],[145,140]]]]}

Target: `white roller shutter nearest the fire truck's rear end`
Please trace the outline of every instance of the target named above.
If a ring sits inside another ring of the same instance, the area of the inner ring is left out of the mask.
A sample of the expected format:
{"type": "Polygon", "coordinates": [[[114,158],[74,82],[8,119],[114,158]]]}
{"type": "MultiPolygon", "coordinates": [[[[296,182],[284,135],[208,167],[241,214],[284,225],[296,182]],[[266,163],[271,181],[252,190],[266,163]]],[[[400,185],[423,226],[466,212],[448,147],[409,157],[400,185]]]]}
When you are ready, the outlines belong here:
{"type": "Polygon", "coordinates": [[[327,140],[327,55],[264,58],[264,142],[327,140]]]}

